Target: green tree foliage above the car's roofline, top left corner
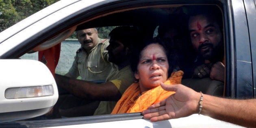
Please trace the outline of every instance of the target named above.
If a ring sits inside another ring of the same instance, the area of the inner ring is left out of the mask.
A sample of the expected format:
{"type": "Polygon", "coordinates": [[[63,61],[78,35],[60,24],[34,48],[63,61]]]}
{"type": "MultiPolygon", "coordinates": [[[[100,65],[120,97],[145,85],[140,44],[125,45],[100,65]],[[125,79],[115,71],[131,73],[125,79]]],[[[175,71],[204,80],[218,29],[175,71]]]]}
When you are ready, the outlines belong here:
{"type": "Polygon", "coordinates": [[[0,32],[59,0],[0,0],[0,32]]]}

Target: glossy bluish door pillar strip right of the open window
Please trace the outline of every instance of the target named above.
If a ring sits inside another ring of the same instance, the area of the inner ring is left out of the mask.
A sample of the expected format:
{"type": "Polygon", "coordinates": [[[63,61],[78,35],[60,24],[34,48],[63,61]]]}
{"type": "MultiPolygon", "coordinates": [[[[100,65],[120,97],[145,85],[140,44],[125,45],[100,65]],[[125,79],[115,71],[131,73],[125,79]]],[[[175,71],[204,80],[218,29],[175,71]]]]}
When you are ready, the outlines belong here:
{"type": "Polygon", "coordinates": [[[234,0],[232,16],[234,25],[234,50],[235,50],[235,98],[252,97],[252,59],[248,25],[243,0],[234,0]],[[238,87],[239,86],[239,87],[238,87]]]}

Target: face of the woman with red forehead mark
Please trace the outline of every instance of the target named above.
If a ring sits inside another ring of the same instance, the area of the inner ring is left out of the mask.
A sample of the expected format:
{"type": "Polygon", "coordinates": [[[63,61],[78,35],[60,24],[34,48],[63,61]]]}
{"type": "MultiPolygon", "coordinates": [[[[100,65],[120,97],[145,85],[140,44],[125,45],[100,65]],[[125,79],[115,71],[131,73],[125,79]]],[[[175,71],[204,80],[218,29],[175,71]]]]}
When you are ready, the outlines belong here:
{"type": "Polygon", "coordinates": [[[152,43],[141,51],[135,78],[139,79],[141,92],[150,90],[165,82],[169,64],[161,45],[152,43]]]}

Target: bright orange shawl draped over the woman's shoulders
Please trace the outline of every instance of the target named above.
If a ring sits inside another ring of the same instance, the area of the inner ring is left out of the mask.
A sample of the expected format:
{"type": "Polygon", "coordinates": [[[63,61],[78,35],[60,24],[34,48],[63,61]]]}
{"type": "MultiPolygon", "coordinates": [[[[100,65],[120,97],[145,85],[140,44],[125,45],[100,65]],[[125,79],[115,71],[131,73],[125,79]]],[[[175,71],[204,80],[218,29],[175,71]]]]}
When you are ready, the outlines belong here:
{"type": "MultiPolygon", "coordinates": [[[[180,84],[182,75],[182,71],[173,72],[171,73],[171,77],[164,83],[167,85],[180,84]]],[[[152,104],[156,104],[174,93],[174,91],[165,91],[161,86],[158,86],[142,92],[141,95],[139,83],[133,83],[126,89],[111,114],[141,112],[146,110],[152,104]]]]}

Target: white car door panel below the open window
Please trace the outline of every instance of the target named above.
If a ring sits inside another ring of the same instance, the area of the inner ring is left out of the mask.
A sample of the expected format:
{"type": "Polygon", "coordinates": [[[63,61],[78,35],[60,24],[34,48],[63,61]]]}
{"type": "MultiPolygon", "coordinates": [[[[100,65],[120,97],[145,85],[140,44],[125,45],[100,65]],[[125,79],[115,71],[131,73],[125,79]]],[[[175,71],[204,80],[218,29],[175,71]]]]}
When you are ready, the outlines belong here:
{"type": "Polygon", "coordinates": [[[20,121],[0,124],[0,128],[18,126],[26,126],[30,128],[243,128],[241,126],[198,114],[179,119],[151,122],[148,119],[142,119],[140,113],[75,117],[69,119],[63,118],[45,121],[20,121]]]}

